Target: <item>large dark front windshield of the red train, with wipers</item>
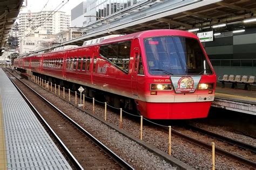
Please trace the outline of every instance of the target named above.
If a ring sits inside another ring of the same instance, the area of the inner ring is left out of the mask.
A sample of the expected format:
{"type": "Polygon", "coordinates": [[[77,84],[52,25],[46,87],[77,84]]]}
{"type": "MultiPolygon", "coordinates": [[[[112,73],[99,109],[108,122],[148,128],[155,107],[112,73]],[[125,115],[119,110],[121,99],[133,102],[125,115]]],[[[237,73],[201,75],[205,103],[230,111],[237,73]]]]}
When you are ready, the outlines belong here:
{"type": "Polygon", "coordinates": [[[196,39],[154,37],[144,40],[151,75],[201,75],[212,70],[196,39]]]}

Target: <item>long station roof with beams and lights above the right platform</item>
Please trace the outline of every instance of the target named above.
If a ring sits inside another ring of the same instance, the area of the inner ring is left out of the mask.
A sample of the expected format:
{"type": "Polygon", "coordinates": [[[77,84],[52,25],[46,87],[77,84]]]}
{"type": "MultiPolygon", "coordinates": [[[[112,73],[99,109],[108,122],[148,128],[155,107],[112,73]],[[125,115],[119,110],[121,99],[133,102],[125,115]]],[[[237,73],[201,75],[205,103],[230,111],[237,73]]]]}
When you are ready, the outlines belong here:
{"type": "MultiPolygon", "coordinates": [[[[148,1],[148,4],[139,6],[139,10],[147,10],[149,6],[152,8],[157,3],[148,1]]],[[[158,1],[159,2],[159,1],[158,1]]],[[[184,2],[184,1],[183,1],[184,2]]],[[[164,2],[165,3],[165,2],[164,2]]],[[[133,11],[138,9],[132,9],[133,11]]],[[[204,0],[193,1],[193,3],[181,6],[179,8],[170,9],[169,11],[160,11],[155,15],[148,15],[142,17],[134,22],[122,23],[113,25],[112,21],[118,18],[127,17],[127,13],[122,15],[112,16],[102,20],[102,23],[95,23],[84,27],[82,31],[87,31],[83,37],[63,42],[62,45],[82,45],[85,40],[95,39],[99,37],[113,34],[129,34],[144,30],[153,29],[177,29],[189,30],[200,29],[201,32],[213,30],[213,25],[226,24],[224,27],[214,29],[214,31],[227,32],[234,29],[241,29],[247,27],[255,27],[256,22],[243,22],[244,19],[256,17],[256,1],[255,0],[204,0]],[[106,27],[108,27],[106,29],[106,27]],[[93,30],[93,31],[91,31],[93,30]]],[[[100,20],[99,20],[100,22],[100,20]]]]}

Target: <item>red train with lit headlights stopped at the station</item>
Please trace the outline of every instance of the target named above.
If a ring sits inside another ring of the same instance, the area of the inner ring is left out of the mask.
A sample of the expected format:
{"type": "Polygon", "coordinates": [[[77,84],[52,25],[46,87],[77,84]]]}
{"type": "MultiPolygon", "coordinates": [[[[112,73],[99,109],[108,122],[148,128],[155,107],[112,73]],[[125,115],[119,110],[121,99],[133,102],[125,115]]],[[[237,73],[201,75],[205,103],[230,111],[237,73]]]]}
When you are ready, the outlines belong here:
{"type": "Polygon", "coordinates": [[[151,30],[90,41],[96,44],[25,56],[14,65],[61,85],[83,86],[87,96],[104,96],[146,118],[207,117],[216,75],[194,34],[151,30]]]}

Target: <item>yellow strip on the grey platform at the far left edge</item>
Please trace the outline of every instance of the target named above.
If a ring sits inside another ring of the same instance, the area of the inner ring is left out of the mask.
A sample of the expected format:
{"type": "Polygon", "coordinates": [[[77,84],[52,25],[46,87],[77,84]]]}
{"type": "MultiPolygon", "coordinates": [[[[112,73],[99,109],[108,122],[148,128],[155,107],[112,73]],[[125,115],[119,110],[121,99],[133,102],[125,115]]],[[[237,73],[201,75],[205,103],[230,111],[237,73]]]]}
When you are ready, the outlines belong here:
{"type": "Polygon", "coordinates": [[[6,147],[4,137],[4,121],[2,111],[2,99],[0,96],[0,169],[7,169],[6,147]]]}

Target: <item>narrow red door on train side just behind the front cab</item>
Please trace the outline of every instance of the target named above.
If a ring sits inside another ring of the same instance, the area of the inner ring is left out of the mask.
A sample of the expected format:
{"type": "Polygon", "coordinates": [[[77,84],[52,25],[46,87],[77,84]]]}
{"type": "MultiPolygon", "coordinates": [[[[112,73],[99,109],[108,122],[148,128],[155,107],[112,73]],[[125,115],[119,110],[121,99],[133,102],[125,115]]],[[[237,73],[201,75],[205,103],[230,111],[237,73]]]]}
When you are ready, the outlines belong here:
{"type": "Polygon", "coordinates": [[[132,67],[132,94],[138,95],[137,89],[137,73],[138,73],[138,62],[139,62],[139,49],[134,48],[133,51],[133,67],[132,67]]]}

